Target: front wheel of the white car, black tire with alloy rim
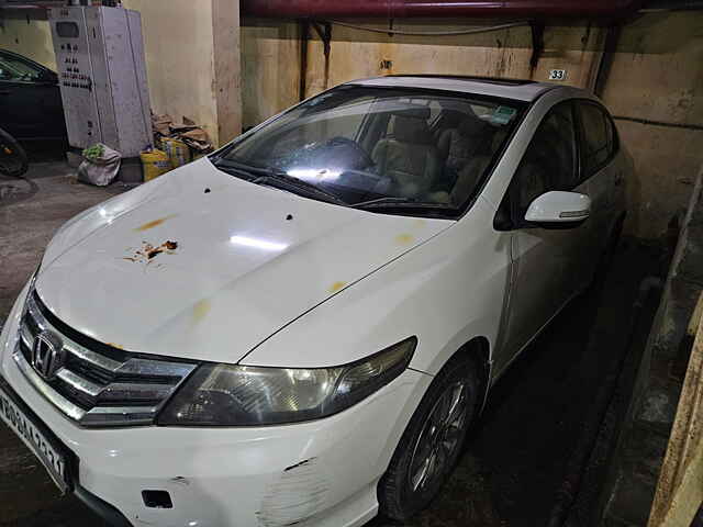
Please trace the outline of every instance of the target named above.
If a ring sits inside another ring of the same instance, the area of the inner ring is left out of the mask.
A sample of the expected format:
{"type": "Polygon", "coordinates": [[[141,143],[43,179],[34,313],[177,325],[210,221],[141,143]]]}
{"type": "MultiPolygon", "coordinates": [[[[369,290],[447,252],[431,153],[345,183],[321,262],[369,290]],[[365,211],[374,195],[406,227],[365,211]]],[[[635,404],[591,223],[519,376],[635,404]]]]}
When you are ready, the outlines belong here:
{"type": "Polygon", "coordinates": [[[435,377],[379,483],[379,509],[382,515],[397,522],[406,522],[425,508],[439,492],[461,453],[467,429],[478,412],[479,386],[477,368],[466,356],[451,359],[435,377]],[[461,408],[457,399],[457,394],[461,397],[459,386],[462,386],[465,397],[461,408]],[[457,406],[454,405],[455,401],[457,406]],[[448,402],[455,408],[457,418],[437,419],[448,413],[448,402]],[[433,429],[440,428],[435,424],[444,428],[433,434],[433,429]],[[444,440],[438,440],[440,436],[444,440]],[[433,448],[436,449],[434,463],[433,448]]]}

